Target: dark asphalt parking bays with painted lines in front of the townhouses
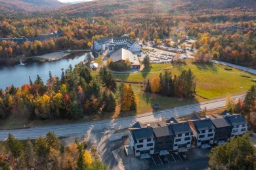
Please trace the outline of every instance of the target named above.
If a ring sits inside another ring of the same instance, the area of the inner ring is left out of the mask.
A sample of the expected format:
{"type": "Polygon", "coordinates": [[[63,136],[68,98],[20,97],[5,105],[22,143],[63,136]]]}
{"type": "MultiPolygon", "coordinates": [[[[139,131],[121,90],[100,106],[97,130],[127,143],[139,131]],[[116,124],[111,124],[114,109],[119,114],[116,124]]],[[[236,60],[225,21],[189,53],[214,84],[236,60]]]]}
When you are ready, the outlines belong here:
{"type": "Polygon", "coordinates": [[[168,155],[162,155],[154,154],[151,156],[151,158],[148,158],[148,165],[149,167],[160,167],[161,165],[165,164],[171,164],[175,162],[181,162],[186,161],[182,160],[181,156],[179,154],[171,153],[168,155]]]}

